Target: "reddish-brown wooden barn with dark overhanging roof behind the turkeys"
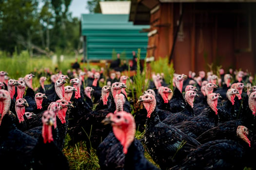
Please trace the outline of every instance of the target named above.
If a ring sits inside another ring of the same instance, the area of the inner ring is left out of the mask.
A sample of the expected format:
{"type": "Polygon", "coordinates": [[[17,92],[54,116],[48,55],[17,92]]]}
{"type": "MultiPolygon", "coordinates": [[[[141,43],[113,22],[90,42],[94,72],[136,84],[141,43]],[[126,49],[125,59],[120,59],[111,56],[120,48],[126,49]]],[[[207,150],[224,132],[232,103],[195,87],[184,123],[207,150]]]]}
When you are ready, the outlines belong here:
{"type": "Polygon", "coordinates": [[[149,24],[147,57],[177,73],[222,66],[256,73],[256,0],[132,0],[129,20],[149,24]]]}

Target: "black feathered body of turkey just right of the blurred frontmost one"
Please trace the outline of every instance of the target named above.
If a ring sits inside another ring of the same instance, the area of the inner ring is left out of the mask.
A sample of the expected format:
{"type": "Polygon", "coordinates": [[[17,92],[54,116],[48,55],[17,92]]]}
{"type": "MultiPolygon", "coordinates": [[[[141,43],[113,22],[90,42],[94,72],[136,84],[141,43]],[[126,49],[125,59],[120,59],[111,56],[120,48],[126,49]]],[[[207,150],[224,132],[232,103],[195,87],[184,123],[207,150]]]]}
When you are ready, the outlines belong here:
{"type": "Polygon", "coordinates": [[[192,148],[200,145],[176,127],[162,123],[156,112],[146,121],[144,140],[149,154],[162,170],[179,164],[192,148]]]}

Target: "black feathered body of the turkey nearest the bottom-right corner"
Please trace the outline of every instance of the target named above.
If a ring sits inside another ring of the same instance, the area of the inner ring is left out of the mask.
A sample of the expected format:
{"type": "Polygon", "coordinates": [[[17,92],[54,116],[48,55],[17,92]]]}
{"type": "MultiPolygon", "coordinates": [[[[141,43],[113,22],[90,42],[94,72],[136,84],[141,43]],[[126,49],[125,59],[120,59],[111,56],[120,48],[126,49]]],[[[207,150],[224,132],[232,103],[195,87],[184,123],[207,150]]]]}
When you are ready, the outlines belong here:
{"type": "Polygon", "coordinates": [[[189,153],[183,163],[171,170],[243,170],[247,143],[234,140],[214,140],[189,153]]]}

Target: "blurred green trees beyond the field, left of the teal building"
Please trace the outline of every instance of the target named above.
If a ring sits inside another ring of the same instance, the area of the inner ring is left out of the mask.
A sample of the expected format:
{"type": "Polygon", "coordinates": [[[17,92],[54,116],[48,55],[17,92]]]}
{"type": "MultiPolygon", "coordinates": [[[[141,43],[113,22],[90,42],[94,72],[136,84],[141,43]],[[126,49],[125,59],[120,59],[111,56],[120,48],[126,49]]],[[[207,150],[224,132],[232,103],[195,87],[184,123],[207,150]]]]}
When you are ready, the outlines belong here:
{"type": "Polygon", "coordinates": [[[71,1],[0,0],[0,51],[28,50],[30,56],[78,51],[80,21],[71,17],[71,1]]]}

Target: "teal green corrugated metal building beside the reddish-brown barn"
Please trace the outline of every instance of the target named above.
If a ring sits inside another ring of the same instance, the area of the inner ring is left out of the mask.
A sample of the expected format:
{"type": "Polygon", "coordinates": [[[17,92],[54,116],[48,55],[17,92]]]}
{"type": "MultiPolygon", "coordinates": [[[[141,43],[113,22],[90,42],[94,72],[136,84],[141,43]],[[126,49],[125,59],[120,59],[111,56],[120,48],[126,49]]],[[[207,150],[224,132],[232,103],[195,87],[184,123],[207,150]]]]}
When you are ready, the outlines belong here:
{"type": "Polygon", "coordinates": [[[129,15],[82,14],[81,34],[86,36],[84,51],[89,60],[111,60],[113,51],[126,53],[132,59],[132,51],[140,48],[141,58],[146,57],[149,25],[133,25],[129,15]]]}

